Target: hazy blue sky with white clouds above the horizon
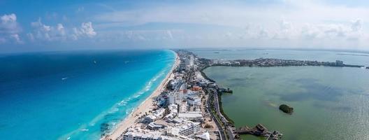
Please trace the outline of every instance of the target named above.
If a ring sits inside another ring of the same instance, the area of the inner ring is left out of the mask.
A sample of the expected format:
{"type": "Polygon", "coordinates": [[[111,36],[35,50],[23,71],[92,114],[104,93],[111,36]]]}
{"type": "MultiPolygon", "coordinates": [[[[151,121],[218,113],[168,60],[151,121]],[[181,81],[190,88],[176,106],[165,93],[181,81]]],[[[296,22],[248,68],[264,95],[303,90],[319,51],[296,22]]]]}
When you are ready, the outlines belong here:
{"type": "Polygon", "coordinates": [[[369,50],[369,1],[0,0],[0,52],[369,50]]]}

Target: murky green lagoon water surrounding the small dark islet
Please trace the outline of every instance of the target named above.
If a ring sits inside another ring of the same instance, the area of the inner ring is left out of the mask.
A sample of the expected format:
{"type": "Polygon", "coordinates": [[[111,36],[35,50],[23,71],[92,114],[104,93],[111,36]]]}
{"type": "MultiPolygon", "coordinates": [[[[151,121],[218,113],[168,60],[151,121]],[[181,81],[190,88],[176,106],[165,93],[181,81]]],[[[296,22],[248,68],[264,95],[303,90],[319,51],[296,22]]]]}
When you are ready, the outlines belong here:
{"type": "Polygon", "coordinates": [[[233,90],[222,102],[236,127],[261,123],[282,132],[282,139],[369,139],[369,70],[212,66],[204,72],[233,90]],[[282,113],[280,104],[294,113],[282,113]]]}

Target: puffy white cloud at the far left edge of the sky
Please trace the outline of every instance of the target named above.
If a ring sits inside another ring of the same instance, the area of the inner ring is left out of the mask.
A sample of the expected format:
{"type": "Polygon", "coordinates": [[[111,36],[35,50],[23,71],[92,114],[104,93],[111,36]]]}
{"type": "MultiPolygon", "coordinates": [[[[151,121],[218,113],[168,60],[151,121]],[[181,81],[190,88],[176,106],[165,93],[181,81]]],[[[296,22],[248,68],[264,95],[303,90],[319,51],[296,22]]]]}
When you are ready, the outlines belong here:
{"type": "Polygon", "coordinates": [[[0,17],[0,43],[8,41],[22,43],[19,36],[21,31],[22,29],[17,23],[17,16],[14,13],[0,17]]]}

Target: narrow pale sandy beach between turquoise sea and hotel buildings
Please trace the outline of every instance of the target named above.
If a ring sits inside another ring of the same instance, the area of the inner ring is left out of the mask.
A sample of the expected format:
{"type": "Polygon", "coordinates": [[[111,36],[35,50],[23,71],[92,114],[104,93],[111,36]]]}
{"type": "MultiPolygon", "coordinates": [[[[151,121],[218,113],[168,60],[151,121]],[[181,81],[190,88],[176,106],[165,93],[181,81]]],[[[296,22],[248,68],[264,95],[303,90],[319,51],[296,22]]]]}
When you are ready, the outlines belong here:
{"type": "Polygon", "coordinates": [[[106,137],[103,137],[102,139],[106,139],[106,140],[117,139],[127,128],[134,125],[134,123],[136,123],[136,120],[140,116],[152,110],[153,97],[157,97],[162,91],[164,91],[166,84],[171,79],[174,78],[173,70],[175,69],[176,66],[178,66],[178,64],[180,64],[180,59],[177,53],[175,53],[175,63],[173,64],[171,71],[168,72],[168,74],[166,75],[166,78],[164,78],[164,80],[160,83],[157,89],[154,92],[152,92],[150,97],[147,97],[147,99],[145,99],[145,101],[142,104],[140,104],[136,109],[134,109],[133,112],[129,114],[129,116],[127,116],[119,125],[117,125],[117,128],[114,130],[112,134],[106,137]]]}

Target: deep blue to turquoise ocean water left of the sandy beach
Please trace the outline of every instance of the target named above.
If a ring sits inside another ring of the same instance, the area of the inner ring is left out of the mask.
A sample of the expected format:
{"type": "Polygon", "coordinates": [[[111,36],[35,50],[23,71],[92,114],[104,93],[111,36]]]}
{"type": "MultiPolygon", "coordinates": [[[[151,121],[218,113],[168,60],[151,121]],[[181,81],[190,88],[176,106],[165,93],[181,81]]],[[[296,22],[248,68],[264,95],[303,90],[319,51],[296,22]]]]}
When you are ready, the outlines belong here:
{"type": "Polygon", "coordinates": [[[0,55],[1,139],[99,139],[161,83],[171,50],[0,55]]]}

